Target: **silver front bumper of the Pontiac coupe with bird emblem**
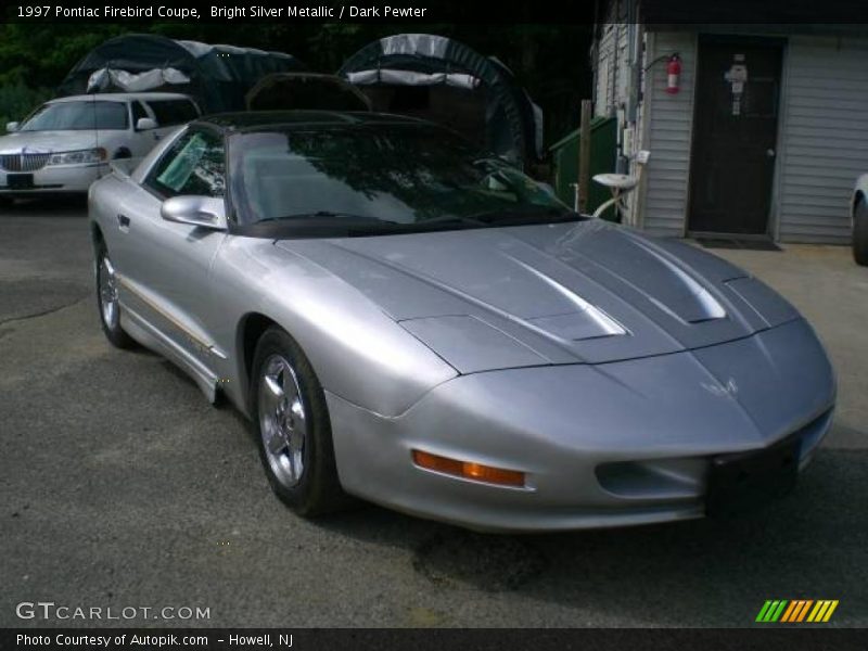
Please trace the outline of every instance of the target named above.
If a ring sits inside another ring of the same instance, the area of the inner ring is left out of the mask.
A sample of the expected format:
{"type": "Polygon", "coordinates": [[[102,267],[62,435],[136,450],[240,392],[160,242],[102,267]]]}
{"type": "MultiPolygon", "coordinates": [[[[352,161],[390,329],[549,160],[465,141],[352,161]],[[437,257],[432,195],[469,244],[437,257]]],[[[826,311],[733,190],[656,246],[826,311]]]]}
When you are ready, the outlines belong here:
{"type": "Polygon", "coordinates": [[[396,418],[327,398],[349,493],[470,528],[529,532],[702,516],[714,458],[795,435],[804,468],[834,393],[822,347],[796,320],[692,352],[464,375],[396,418]],[[520,470],[526,486],[423,470],[413,449],[520,470]]]}

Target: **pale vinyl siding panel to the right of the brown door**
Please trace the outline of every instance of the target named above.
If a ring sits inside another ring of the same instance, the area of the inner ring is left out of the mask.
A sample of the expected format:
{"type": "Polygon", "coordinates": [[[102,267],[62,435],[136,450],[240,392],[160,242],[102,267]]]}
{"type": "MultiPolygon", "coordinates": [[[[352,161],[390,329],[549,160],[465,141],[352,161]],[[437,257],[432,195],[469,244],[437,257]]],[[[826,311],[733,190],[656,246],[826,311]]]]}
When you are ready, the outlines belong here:
{"type": "Polygon", "coordinates": [[[778,238],[848,243],[856,177],[868,171],[868,40],[794,36],[778,144],[778,238]]]}

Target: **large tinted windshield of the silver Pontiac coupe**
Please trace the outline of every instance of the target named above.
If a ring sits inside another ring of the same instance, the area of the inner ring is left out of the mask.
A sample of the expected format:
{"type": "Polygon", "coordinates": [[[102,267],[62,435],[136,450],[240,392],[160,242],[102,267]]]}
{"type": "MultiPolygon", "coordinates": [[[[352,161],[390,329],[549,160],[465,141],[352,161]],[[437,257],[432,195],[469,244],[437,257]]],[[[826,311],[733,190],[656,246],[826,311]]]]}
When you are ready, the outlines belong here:
{"type": "Polygon", "coordinates": [[[230,169],[241,224],[404,232],[579,218],[545,186],[433,126],[241,133],[230,169]]]}

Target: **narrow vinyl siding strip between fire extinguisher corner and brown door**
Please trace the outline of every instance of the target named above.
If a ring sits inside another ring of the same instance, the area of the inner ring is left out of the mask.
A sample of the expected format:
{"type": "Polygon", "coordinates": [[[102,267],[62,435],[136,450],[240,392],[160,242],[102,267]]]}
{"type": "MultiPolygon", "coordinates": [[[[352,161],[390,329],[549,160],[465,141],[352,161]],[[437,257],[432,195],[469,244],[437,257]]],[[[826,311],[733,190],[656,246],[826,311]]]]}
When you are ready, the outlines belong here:
{"type": "Polygon", "coordinates": [[[678,52],[681,58],[680,92],[666,92],[666,61],[648,71],[650,101],[646,146],[651,157],[644,168],[643,228],[652,234],[680,237],[687,215],[690,139],[693,128],[693,80],[697,35],[659,31],[653,35],[649,61],[678,52]]]}

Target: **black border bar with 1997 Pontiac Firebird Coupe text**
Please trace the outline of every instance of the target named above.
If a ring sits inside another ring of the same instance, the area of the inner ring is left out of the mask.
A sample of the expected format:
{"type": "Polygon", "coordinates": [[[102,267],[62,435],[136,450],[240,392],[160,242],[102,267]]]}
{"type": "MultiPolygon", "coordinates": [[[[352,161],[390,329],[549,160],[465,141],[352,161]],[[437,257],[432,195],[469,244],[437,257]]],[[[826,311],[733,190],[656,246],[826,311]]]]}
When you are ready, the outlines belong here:
{"type": "MultiPolygon", "coordinates": [[[[430,25],[592,24],[604,22],[615,0],[7,0],[0,22],[181,22],[181,23],[386,23],[430,25]],[[112,13],[106,8],[124,10],[112,13]],[[281,10],[280,15],[253,15],[252,8],[281,10]],[[28,9],[30,11],[28,13],[28,9]],[[34,15],[34,8],[48,8],[34,15]],[[163,14],[161,15],[161,8],[163,14]],[[244,8],[245,15],[215,15],[212,8],[244,8]],[[290,15],[290,9],[295,13],[290,15]],[[353,8],[356,8],[354,13],[353,8]],[[392,8],[393,11],[386,11],[392,8]],[[84,10],[91,9],[92,13],[84,10]],[[359,9],[366,11],[359,12],[359,9]],[[404,10],[404,13],[394,11],[404,10]],[[184,13],[181,10],[186,10],[184,13]],[[195,17],[190,12],[196,10],[195,17]],[[179,15],[183,14],[183,15],[179,15]],[[166,15],[168,14],[168,15],[166,15]]],[[[636,15],[651,25],[847,25],[868,30],[865,0],[621,0],[637,2],[636,15]],[[860,27],[859,27],[860,26],[860,27]]]]}

